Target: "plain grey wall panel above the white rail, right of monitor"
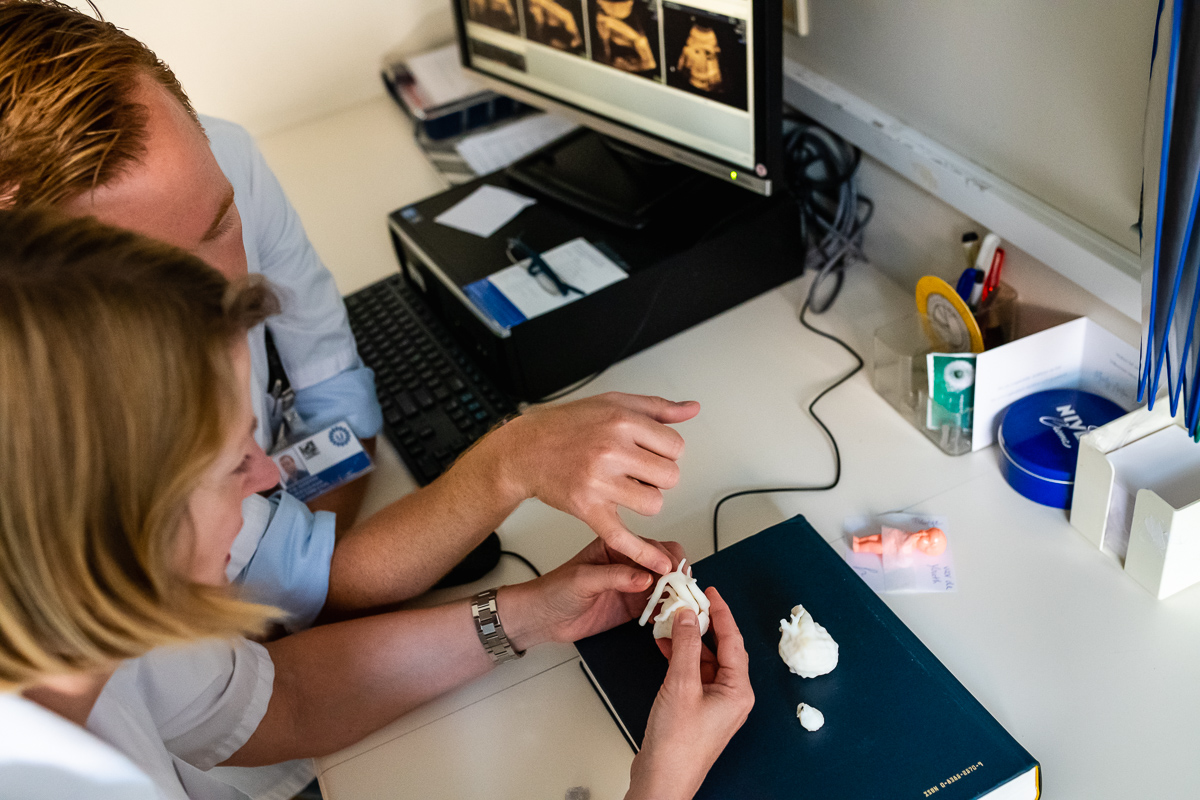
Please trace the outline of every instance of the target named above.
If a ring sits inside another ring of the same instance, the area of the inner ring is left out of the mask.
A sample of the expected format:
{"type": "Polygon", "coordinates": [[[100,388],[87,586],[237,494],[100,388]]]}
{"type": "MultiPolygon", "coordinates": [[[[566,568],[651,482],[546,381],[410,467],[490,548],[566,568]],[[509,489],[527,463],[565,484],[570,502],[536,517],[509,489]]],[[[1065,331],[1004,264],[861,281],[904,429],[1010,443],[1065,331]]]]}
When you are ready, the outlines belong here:
{"type": "Polygon", "coordinates": [[[1157,0],[810,0],[790,55],[1138,251],[1157,0]]]}

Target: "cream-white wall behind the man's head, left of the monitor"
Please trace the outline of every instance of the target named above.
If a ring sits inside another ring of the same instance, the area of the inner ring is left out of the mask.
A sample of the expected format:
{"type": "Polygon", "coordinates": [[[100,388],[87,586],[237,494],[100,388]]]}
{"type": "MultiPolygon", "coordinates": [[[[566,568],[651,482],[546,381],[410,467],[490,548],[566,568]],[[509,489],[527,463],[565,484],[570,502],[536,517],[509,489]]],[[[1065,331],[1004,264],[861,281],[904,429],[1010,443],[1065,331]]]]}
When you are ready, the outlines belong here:
{"type": "MultiPolygon", "coordinates": [[[[88,11],[83,0],[72,5],[88,11]]],[[[197,109],[268,133],[383,91],[385,52],[454,37],[450,0],[96,0],[149,44],[197,109]]]]}

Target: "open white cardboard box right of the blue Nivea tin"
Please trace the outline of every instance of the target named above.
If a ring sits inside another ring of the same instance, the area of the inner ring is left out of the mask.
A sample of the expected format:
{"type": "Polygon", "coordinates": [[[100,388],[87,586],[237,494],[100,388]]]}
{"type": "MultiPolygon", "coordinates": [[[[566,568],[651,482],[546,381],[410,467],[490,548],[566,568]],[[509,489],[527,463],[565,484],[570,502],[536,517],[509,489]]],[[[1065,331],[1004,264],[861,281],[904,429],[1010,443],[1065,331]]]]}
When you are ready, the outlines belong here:
{"type": "Polygon", "coordinates": [[[1200,582],[1200,445],[1165,398],[1080,439],[1070,524],[1159,600],[1200,582]]]}

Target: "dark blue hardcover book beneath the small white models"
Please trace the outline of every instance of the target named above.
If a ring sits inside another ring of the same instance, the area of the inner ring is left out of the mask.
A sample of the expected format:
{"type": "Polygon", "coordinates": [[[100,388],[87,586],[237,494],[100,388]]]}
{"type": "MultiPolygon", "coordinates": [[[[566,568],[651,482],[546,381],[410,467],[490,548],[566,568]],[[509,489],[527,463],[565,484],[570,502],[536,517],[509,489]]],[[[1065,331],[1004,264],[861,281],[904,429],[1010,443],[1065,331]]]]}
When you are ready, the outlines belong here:
{"type": "MultiPolygon", "coordinates": [[[[694,565],[716,587],[750,655],[755,706],[697,798],[1034,800],[1038,763],[871,591],[804,517],[694,565]],[[779,621],[803,604],[839,645],[838,667],[800,678],[779,657],[779,621]],[[809,732],[808,703],[824,714],[809,732]]],[[[635,750],[667,662],[634,620],[576,643],[635,750]]]]}

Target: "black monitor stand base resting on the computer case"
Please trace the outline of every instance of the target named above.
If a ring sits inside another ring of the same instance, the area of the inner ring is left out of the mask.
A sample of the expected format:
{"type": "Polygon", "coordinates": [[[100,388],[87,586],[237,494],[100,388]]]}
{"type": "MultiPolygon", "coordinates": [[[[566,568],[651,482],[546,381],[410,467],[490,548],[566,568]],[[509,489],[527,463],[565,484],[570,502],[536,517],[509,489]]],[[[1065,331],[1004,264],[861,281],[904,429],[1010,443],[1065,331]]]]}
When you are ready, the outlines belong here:
{"type": "Polygon", "coordinates": [[[700,182],[696,170],[587,128],[505,170],[515,182],[589,213],[641,230],[654,210],[700,182]]]}

